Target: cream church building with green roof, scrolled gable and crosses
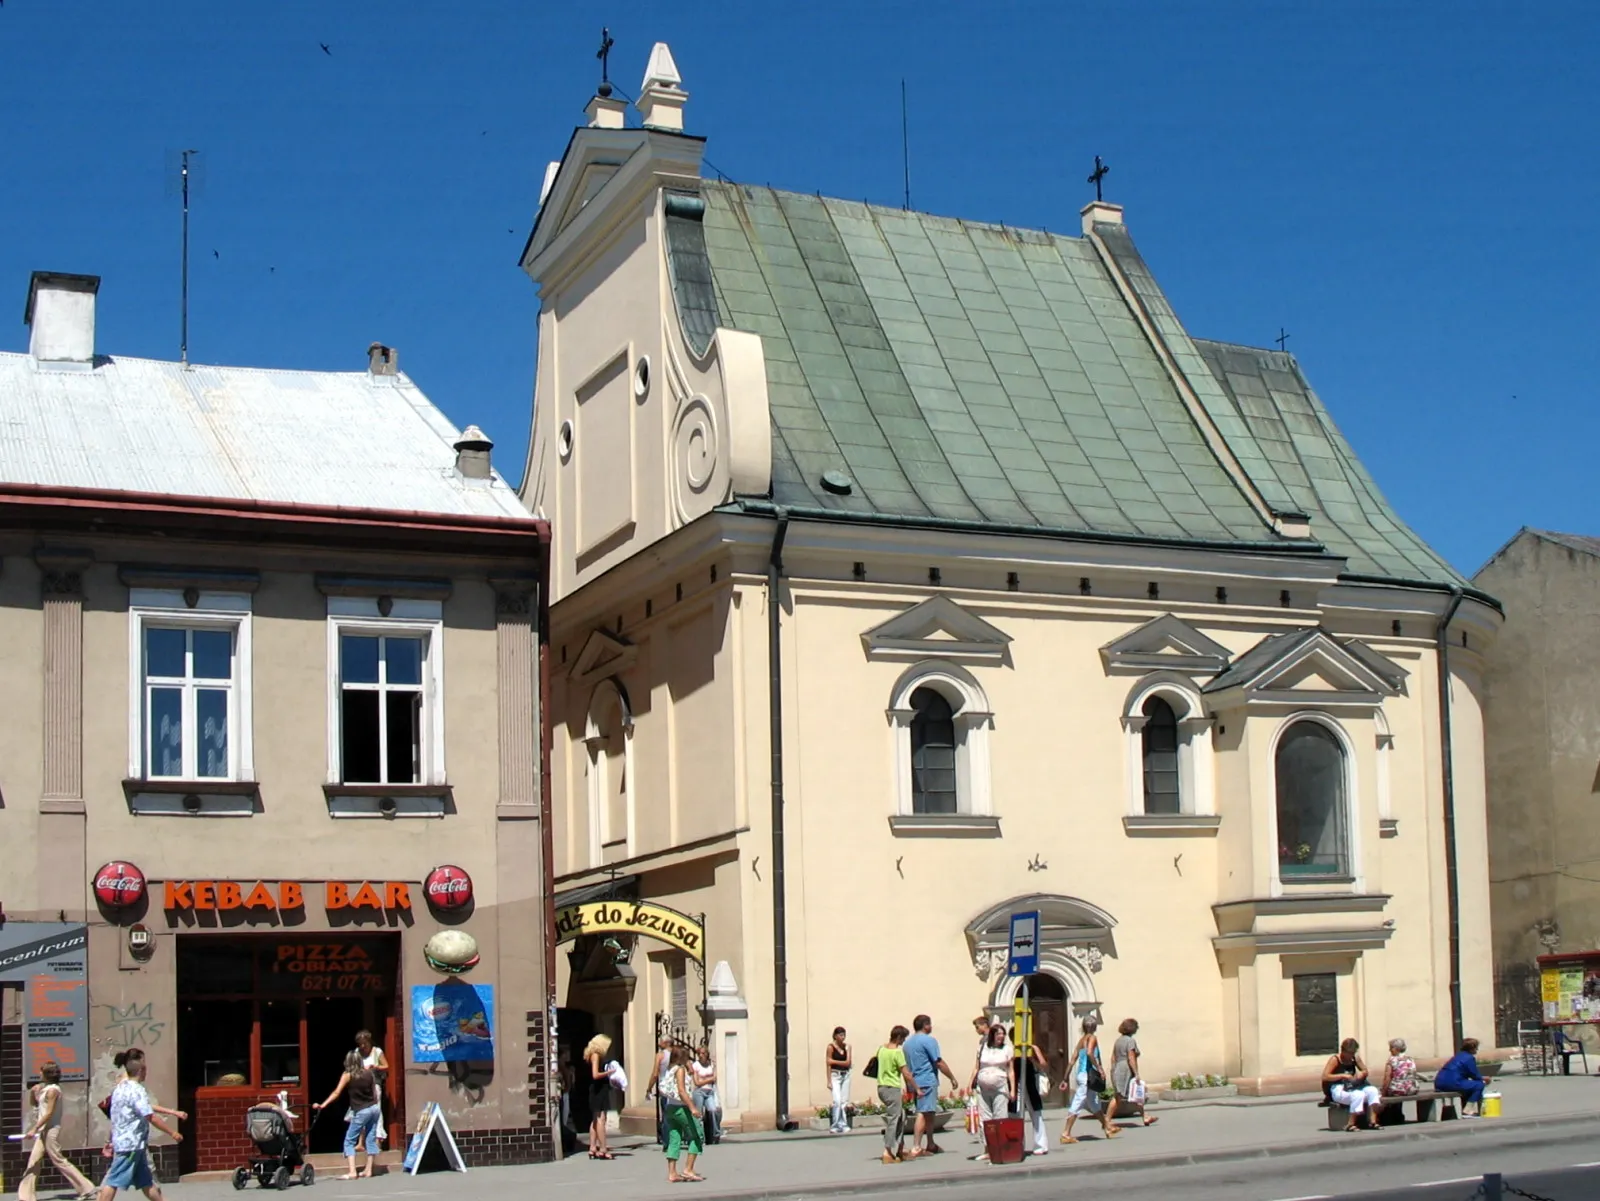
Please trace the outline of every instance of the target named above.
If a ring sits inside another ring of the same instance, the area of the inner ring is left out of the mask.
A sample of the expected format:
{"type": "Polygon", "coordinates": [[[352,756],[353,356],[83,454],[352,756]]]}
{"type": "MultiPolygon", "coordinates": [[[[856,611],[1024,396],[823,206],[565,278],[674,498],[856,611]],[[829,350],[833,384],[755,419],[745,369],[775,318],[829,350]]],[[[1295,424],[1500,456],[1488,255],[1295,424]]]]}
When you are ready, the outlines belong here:
{"type": "Polygon", "coordinates": [[[558,904],[704,921],[704,964],[570,944],[563,1044],[638,1083],[709,1012],[746,1124],[826,1103],[835,1025],[864,1062],[928,1012],[960,1075],[1022,910],[1058,1078],[1086,1014],[1245,1091],[1491,1039],[1499,611],[1293,357],[1192,337],[1114,205],[1066,237],[714,182],[685,101],[664,46],[642,128],[597,96],[523,259],[558,904]]]}

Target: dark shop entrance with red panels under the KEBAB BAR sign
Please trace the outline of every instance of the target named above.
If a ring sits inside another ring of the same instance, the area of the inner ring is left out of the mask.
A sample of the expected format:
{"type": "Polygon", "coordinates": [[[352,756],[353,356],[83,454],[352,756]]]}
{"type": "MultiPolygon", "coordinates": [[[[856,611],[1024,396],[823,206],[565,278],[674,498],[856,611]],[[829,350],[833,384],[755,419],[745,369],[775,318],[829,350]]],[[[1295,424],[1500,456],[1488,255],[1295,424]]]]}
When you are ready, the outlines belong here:
{"type": "Polygon", "coordinates": [[[357,1030],[371,1030],[389,1059],[384,1121],[389,1145],[402,1139],[398,950],[397,934],[178,936],[178,1092],[190,1115],[182,1171],[245,1163],[245,1113],[280,1091],[309,1148],[338,1151],[342,1103],[315,1124],[310,1103],[339,1083],[357,1030]]]}

